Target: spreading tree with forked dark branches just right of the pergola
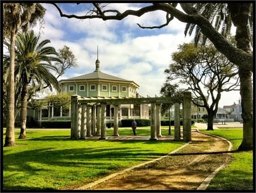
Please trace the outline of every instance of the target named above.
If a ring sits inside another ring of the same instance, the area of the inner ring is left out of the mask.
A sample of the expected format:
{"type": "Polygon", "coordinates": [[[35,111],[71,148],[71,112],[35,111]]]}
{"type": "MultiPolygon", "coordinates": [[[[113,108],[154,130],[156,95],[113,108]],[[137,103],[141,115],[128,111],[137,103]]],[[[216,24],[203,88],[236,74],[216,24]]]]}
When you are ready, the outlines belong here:
{"type": "Polygon", "coordinates": [[[193,93],[193,103],[207,110],[207,129],[212,130],[221,93],[238,90],[237,67],[211,45],[179,45],[172,59],[174,62],[165,70],[167,81],[179,80],[187,85],[187,90],[193,93]]]}

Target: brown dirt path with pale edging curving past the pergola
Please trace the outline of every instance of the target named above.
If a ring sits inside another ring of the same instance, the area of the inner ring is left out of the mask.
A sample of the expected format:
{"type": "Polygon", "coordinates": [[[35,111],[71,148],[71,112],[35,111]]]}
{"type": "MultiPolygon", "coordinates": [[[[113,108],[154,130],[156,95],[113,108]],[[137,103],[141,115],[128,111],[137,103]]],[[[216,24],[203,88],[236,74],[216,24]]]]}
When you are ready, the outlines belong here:
{"type": "Polygon", "coordinates": [[[90,189],[195,190],[226,160],[228,143],[193,130],[192,143],[178,153],[128,171],[90,189]]]}

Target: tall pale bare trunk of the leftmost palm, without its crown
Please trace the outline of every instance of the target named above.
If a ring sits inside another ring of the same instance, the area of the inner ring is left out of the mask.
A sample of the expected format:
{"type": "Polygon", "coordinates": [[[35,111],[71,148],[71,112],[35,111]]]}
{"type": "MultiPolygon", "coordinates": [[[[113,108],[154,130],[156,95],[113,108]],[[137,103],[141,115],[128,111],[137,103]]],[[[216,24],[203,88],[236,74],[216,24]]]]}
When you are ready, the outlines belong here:
{"type": "Polygon", "coordinates": [[[6,137],[4,146],[15,145],[14,135],[14,58],[15,58],[15,30],[11,30],[10,37],[10,67],[7,82],[7,116],[6,116],[6,137]]]}

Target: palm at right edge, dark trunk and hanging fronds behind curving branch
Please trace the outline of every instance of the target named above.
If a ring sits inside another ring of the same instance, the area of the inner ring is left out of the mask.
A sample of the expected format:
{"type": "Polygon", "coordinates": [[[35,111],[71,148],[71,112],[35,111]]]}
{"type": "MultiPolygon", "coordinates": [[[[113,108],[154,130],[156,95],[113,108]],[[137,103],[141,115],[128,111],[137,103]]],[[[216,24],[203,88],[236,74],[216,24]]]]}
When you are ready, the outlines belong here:
{"type": "MultiPolygon", "coordinates": [[[[253,7],[252,3],[196,3],[194,7],[206,17],[216,29],[221,30],[226,37],[230,34],[231,24],[236,29],[237,48],[251,53],[252,29],[253,29],[253,7]]],[[[195,30],[194,24],[187,24],[185,34],[191,35],[195,30]]],[[[196,27],[194,41],[196,44],[206,42],[206,36],[196,27]]],[[[243,118],[243,141],[239,149],[252,149],[253,129],[252,129],[252,72],[247,66],[239,66],[240,95],[243,118]]]]}

